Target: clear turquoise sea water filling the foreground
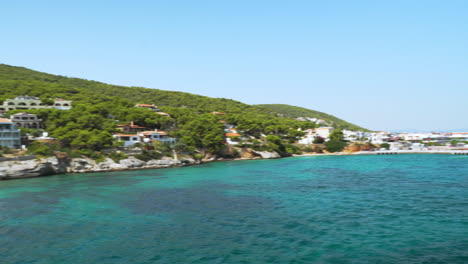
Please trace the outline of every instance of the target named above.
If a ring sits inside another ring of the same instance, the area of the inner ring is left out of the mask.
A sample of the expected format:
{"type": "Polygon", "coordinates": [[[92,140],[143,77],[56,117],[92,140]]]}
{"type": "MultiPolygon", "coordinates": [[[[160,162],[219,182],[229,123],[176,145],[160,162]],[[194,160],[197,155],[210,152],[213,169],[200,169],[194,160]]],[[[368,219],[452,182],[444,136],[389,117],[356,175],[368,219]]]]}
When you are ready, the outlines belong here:
{"type": "Polygon", "coordinates": [[[468,263],[468,157],[222,162],[0,182],[0,263],[468,263]]]}

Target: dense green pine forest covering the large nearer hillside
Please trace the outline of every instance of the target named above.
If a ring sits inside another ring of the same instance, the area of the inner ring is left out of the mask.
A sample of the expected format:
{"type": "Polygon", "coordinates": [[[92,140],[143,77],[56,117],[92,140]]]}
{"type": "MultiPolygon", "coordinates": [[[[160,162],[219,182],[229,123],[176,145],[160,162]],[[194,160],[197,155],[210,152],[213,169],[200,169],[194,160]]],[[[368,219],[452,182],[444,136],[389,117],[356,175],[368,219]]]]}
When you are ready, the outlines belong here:
{"type": "MultiPolygon", "coordinates": [[[[302,135],[298,128],[316,126],[313,122],[295,120],[291,118],[293,116],[281,117],[264,106],[247,105],[230,99],[109,85],[0,64],[0,102],[19,95],[36,96],[43,102],[55,98],[72,100],[71,110],[37,109],[28,112],[38,114],[44,120],[46,130],[58,139],[55,149],[86,155],[116,146],[112,138],[116,125],[130,121],[149,129],[169,130],[172,136],[180,139],[179,148],[191,152],[202,150],[203,153],[222,151],[222,124],[236,126],[251,141],[268,135],[269,142],[263,140],[267,147],[283,153],[288,149],[283,142],[292,143],[302,135]],[[170,117],[134,107],[141,103],[155,104],[170,117]],[[222,112],[223,115],[213,115],[211,112],[222,112]]],[[[19,110],[9,111],[5,116],[16,112],[19,110]]],[[[337,126],[345,124],[343,127],[359,128],[332,116],[327,115],[323,119],[337,126]]],[[[258,142],[254,143],[259,145],[258,142]]],[[[31,148],[43,149],[44,146],[31,148]]]]}

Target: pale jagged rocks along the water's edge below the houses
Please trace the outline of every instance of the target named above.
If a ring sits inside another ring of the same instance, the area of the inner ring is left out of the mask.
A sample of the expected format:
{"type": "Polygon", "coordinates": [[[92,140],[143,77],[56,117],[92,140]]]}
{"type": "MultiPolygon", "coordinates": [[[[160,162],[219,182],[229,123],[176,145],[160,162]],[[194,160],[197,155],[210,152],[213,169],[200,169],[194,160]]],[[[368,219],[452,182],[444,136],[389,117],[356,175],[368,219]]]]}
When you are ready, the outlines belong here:
{"type": "MultiPolygon", "coordinates": [[[[250,151],[238,160],[274,159],[280,158],[276,152],[250,151]]],[[[122,159],[118,162],[110,158],[96,162],[89,158],[73,158],[56,155],[55,157],[35,158],[30,160],[0,161],[0,180],[22,179],[41,176],[51,176],[67,173],[111,172],[139,169],[159,169],[183,167],[206,162],[222,161],[228,159],[206,158],[197,161],[192,157],[170,158],[142,161],[134,157],[122,159]]]]}

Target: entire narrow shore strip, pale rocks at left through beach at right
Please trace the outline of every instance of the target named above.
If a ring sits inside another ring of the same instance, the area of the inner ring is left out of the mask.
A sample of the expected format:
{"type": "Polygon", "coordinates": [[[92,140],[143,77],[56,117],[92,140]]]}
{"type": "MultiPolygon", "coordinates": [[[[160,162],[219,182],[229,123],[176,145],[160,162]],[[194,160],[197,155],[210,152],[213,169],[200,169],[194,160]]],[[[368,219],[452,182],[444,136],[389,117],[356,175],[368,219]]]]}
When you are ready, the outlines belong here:
{"type": "Polygon", "coordinates": [[[360,156],[360,155],[399,155],[399,154],[445,154],[445,155],[468,155],[468,151],[360,151],[360,152],[335,152],[335,153],[306,153],[294,154],[290,157],[280,157],[273,153],[266,156],[255,156],[250,158],[232,159],[206,159],[196,161],[194,159],[173,159],[163,158],[160,160],[141,161],[136,158],[128,158],[118,163],[111,159],[103,162],[95,162],[91,159],[78,158],[70,161],[60,160],[57,157],[47,157],[43,159],[33,159],[26,161],[1,161],[0,180],[25,179],[34,177],[45,177],[53,175],[65,175],[75,173],[95,173],[95,172],[116,172],[129,170],[148,170],[163,168],[178,168],[224,161],[243,160],[266,160],[292,157],[324,157],[324,156],[360,156]]]}

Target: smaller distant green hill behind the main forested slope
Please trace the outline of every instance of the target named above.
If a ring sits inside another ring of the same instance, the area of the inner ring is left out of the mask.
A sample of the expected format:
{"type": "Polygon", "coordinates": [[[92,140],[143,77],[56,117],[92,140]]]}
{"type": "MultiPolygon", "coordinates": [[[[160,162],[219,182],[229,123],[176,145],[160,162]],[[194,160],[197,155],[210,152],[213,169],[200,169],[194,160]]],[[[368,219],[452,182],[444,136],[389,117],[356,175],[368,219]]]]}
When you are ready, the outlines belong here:
{"type": "Polygon", "coordinates": [[[362,131],[368,131],[367,129],[348,123],[342,119],[339,119],[335,116],[315,111],[315,110],[310,110],[307,108],[303,107],[298,107],[298,106],[292,106],[292,105],[286,105],[286,104],[260,104],[257,105],[258,107],[261,107],[265,110],[270,111],[270,113],[275,113],[280,116],[284,117],[289,117],[289,118],[298,118],[298,117],[310,117],[310,118],[318,118],[318,119],[323,119],[327,122],[331,122],[333,125],[336,127],[342,128],[342,129],[350,129],[350,130],[362,130],[362,131]]]}

